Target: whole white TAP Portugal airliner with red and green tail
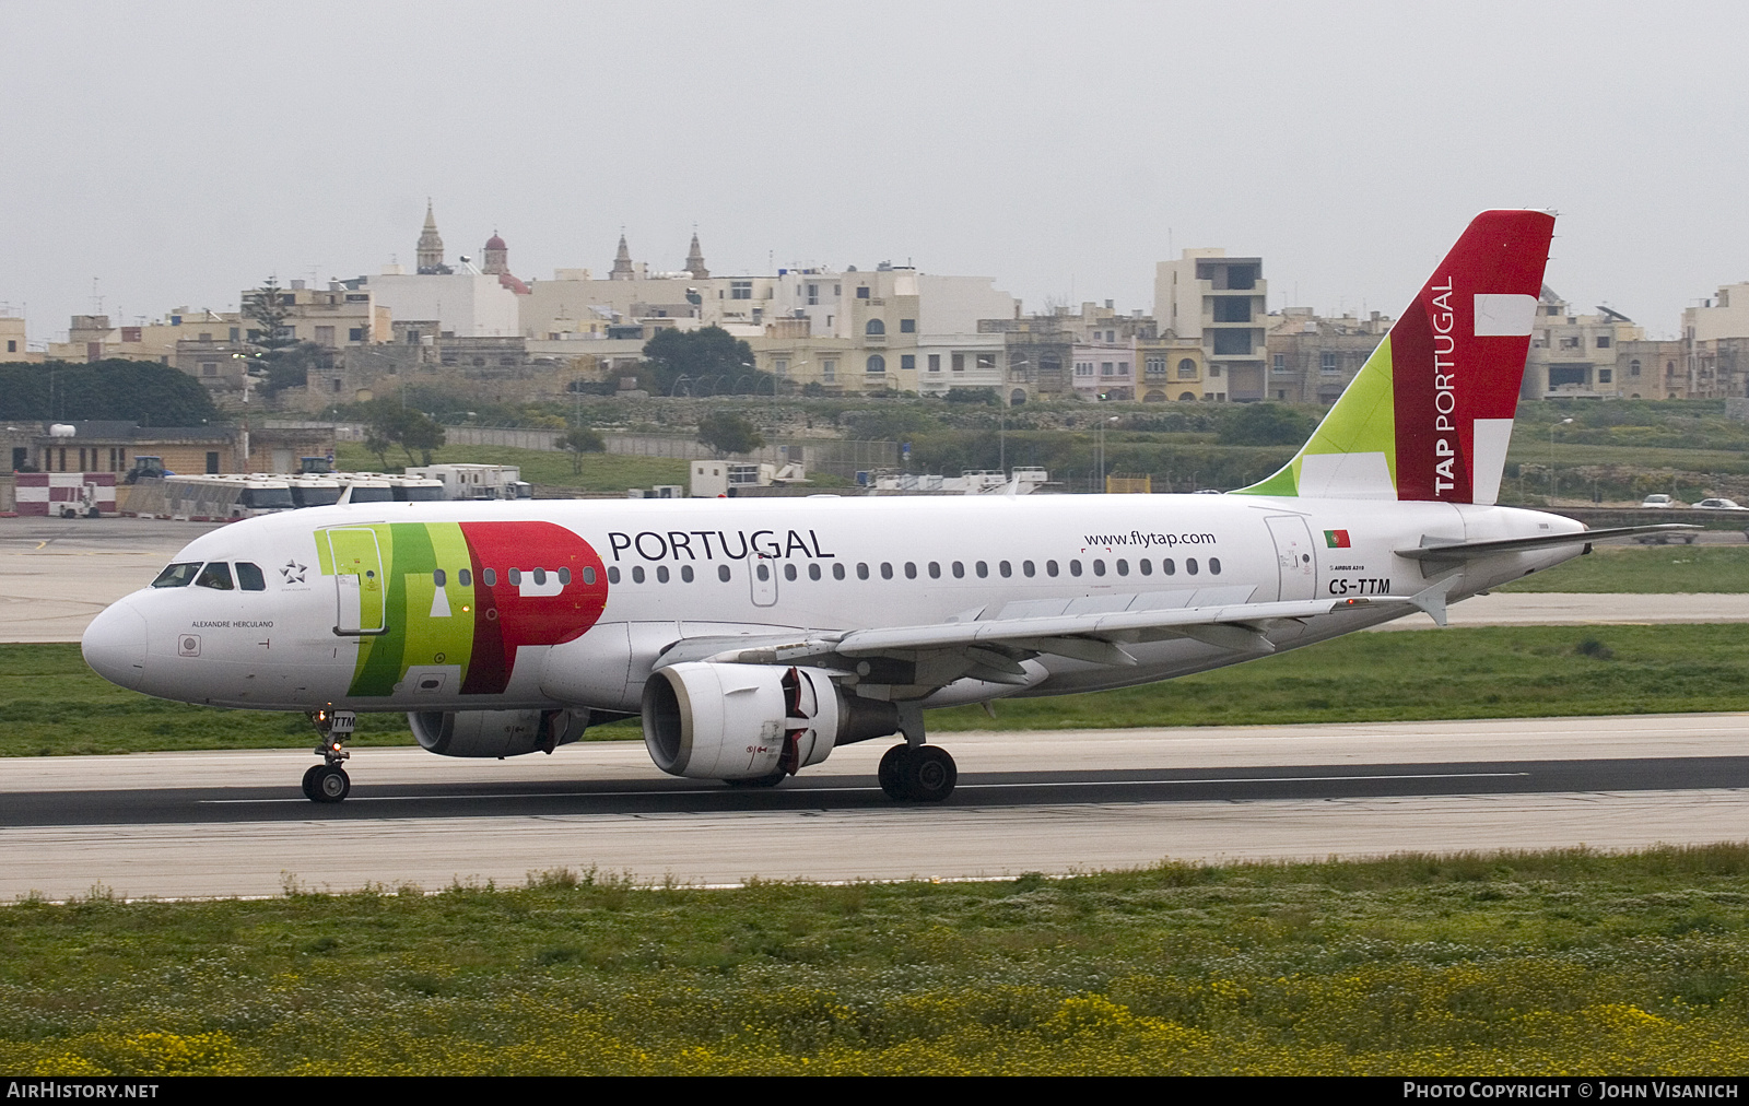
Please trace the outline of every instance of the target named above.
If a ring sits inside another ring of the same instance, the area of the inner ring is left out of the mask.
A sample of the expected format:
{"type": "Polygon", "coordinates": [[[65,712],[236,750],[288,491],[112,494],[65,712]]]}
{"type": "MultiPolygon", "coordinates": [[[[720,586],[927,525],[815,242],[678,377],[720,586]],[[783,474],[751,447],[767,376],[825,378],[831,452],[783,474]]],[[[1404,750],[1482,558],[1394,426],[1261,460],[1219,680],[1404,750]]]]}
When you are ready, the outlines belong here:
{"type": "Polygon", "coordinates": [[[343,502],[189,542],[84,656],[147,695],[308,712],[318,803],[350,793],[369,710],[472,758],[640,716],[658,768],[745,788],[895,737],[880,786],[939,802],[957,770],[927,709],[1445,625],[1658,530],[1495,504],[1553,222],[1478,215],[1310,441],[1237,492],[343,502]]]}

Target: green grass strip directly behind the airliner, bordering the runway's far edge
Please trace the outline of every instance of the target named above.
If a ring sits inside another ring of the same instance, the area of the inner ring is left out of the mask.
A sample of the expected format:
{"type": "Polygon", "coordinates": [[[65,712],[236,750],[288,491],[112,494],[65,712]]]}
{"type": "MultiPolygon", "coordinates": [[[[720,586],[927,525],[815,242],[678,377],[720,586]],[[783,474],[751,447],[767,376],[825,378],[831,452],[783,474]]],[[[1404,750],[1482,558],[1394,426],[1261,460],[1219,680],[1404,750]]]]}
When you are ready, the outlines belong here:
{"type": "MultiPolygon", "coordinates": [[[[1452,628],[1355,634],[1161,684],[932,710],[950,730],[1223,726],[1420,718],[1749,710],[1749,625],[1452,628]],[[1404,688],[1413,688],[1406,695],[1404,688]]],[[[0,646],[0,756],[304,747],[301,714],[219,710],[101,681],[79,646],[0,646]]],[[[591,730],[637,738],[637,721],[591,730]]],[[[357,746],[411,744],[401,714],[357,746]]]]}

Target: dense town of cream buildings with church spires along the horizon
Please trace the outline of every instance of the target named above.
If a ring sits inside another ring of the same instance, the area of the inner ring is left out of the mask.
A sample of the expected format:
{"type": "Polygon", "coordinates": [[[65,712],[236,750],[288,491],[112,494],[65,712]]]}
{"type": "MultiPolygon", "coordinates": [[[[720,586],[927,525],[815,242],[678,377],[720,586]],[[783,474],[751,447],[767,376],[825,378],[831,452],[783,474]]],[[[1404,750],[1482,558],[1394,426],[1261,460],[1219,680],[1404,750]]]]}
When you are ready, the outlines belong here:
{"type": "MultiPolygon", "coordinates": [[[[602,243],[605,247],[605,243],[602,243]]],[[[1153,312],[1112,301],[1025,313],[990,276],[923,273],[911,264],[785,266],[714,271],[694,229],[679,268],[633,256],[624,231],[602,270],[558,268],[551,280],[512,271],[497,229],[476,256],[449,256],[427,201],[413,271],[292,280],[278,289],[273,336],[243,312],[187,306],[128,326],[73,315],[66,338],[30,350],[24,318],[0,306],[0,357],[156,360],[236,404],[250,394],[262,346],[308,343],[303,388],[275,406],[322,410],[404,390],[409,382],[481,385],[491,401],[563,397],[631,380],[663,329],[722,327],[743,340],[743,378],[712,388],[810,396],[988,392],[1007,404],[1086,402],[1331,404],[1392,320],[1268,312],[1263,259],[1186,248],[1154,266],[1153,312]],[[602,276],[595,273],[600,271],[602,276]]],[[[607,256],[603,248],[603,257],[607,256]]],[[[101,301],[100,301],[101,303],[101,301]]],[[[1579,313],[1553,289],[1537,303],[1523,399],[1686,399],[1749,394],[1749,284],[1721,285],[1683,313],[1681,338],[1653,340],[1627,315],[1579,313]]],[[[691,394],[680,380],[673,385],[691,394]]]]}

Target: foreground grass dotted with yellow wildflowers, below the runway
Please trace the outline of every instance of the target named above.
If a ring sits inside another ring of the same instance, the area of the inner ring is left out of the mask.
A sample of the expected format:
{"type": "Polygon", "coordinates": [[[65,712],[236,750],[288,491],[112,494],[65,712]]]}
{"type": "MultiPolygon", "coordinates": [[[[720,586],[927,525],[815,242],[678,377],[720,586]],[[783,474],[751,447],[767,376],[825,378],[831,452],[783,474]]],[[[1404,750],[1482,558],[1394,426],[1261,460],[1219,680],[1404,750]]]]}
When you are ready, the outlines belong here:
{"type": "MultiPolygon", "coordinates": [[[[1163,844],[1163,849],[1170,847],[1163,844]]],[[[1749,845],[0,910],[0,1071],[1740,1074],[1749,845]]]]}

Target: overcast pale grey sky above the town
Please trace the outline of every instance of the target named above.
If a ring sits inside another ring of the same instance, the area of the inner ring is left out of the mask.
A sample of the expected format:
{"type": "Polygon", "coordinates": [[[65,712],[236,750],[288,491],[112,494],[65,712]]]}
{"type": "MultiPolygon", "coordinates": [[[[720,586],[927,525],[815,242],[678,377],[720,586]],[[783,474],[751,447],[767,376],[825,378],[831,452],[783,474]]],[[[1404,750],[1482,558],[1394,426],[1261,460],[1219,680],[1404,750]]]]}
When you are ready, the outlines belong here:
{"type": "Polygon", "coordinates": [[[1153,306],[1168,248],[1272,310],[1396,313],[1488,206],[1655,336],[1749,280],[1744,4],[0,0],[0,304],[33,341],[451,254],[775,262],[1153,306]]]}

